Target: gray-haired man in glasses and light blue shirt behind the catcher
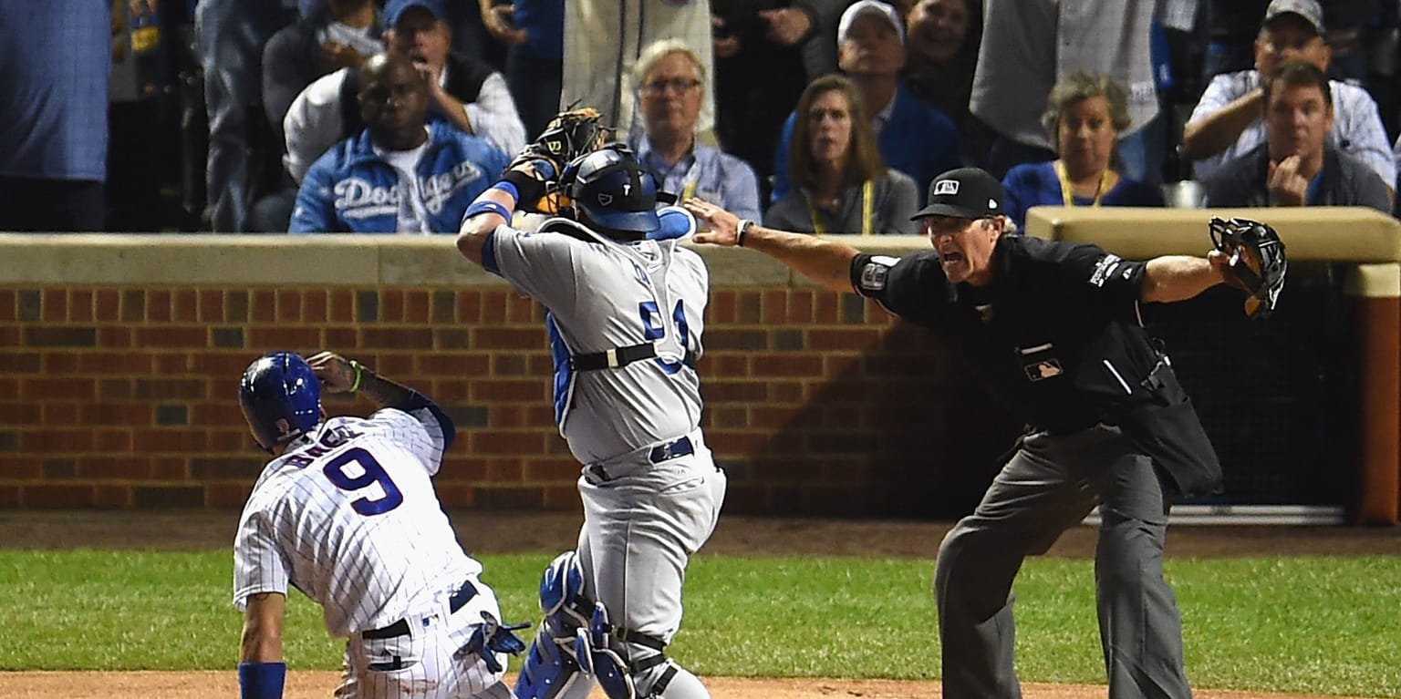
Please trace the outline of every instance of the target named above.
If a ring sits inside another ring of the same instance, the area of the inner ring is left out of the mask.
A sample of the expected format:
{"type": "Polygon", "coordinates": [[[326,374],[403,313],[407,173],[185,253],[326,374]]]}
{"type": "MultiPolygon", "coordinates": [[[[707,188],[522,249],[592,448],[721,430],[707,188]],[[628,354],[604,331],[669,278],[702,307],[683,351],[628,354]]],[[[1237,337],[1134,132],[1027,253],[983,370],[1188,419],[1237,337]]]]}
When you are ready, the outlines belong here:
{"type": "Polygon", "coordinates": [[[657,186],[682,202],[699,196],[741,219],[759,220],[754,168],[696,141],[705,90],[696,53],[679,41],[663,39],[643,49],[633,70],[644,133],[632,147],[657,186]]]}

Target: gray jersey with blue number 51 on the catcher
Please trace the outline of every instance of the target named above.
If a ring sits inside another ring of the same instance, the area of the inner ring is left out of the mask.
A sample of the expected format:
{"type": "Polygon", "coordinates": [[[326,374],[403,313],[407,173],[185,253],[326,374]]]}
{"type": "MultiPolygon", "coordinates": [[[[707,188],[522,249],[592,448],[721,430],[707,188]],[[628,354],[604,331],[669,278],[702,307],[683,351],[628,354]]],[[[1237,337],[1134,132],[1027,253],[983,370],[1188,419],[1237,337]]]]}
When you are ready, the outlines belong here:
{"type": "Polygon", "coordinates": [[[675,240],[615,242],[563,219],[525,233],[500,226],[488,241],[488,270],[549,308],[555,419],[583,464],[692,433],[700,423],[700,380],[682,360],[700,356],[710,276],[675,240]],[[657,356],[619,368],[572,371],[570,354],[650,342],[657,356]]]}

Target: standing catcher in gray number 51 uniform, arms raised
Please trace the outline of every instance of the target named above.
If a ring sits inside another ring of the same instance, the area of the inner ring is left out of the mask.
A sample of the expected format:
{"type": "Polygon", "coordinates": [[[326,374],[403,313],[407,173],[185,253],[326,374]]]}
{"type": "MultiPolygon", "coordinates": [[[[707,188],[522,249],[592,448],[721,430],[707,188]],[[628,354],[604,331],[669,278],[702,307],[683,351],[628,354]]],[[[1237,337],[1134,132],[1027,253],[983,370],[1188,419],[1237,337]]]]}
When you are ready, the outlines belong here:
{"type": "Polygon", "coordinates": [[[590,112],[555,119],[467,210],[457,249],[545,305],[555,419],[579,461],[579,548],[541,579],[544,621],[516,699],[709,699],[671,658],[691,553],[710,537],[726,476],[700,429],[696,361],[710,277],[684,209],[590,112]],[[584,148],[586,153],[574,151],[584,148]],[[556,214],[528,233],[523,202],[556,214]],[[553,200],[551,200],[553,198],[553,200]],[[567,203],[563,203],[566,202],[567,203]]]}

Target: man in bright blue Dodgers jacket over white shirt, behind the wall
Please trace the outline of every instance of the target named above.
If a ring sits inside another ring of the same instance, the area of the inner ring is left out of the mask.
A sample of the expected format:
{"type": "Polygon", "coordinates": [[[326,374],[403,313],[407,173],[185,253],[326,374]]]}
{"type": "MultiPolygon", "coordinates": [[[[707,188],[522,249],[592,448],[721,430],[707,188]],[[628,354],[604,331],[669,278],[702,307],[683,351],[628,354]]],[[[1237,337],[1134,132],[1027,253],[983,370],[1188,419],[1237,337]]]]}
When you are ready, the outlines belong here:
{"type": "Polygon", "coordinates": [[[446,119],[426,122],[429,88],[406,56],[375,53],[361,85],[366,129],[307,171],[290,233],[455,233],[506,153],[446,119]]]}

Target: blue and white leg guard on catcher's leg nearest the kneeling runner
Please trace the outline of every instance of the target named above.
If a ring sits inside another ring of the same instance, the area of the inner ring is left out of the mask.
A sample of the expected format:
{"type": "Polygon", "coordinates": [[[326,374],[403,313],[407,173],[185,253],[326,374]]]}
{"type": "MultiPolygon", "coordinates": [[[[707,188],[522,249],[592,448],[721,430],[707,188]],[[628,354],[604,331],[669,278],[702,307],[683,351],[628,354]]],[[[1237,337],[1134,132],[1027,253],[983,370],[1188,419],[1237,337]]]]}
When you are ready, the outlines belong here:
{"type": "Polygon", "coordinates": [[[569,688],[580,681],[573,644],[576,629],[588,623],[590,604],[583,593],[584,570],[574,552],[560,553],[539,581],[544,618],[516,678],[517,699],[567,696],[569,688]]]}

